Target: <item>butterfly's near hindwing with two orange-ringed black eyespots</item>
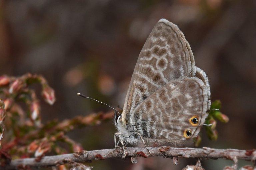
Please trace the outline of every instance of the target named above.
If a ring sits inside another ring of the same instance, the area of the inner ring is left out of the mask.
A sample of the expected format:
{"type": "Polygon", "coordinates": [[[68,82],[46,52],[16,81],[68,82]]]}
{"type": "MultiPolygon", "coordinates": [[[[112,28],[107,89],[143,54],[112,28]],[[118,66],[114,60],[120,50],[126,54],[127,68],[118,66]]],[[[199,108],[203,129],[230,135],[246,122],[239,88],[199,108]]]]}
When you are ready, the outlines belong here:
{"type": "Polygon", "coordinates": [[[196,136],[207,116],[207,87],[197,77],[169,82],[144,100],[130,117],[143,137],[184,140],[196,136]],[[184,136],[184,131],[191,134],[184,136]]]}

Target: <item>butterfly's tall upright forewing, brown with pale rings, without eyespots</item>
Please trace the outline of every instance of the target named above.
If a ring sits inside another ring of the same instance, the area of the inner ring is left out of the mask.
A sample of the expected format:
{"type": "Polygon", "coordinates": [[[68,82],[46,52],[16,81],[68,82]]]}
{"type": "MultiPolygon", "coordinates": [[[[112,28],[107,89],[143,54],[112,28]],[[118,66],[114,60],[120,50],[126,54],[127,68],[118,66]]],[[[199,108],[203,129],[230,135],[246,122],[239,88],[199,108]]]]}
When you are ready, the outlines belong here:
{"type": "Polygon", "coordinates": [[[183,33],[161,19],[145,42],[125,99],[122,120],[134,117],[134,109],[156,90],[181,76],[194,76],[193,53],[183,33]]]}

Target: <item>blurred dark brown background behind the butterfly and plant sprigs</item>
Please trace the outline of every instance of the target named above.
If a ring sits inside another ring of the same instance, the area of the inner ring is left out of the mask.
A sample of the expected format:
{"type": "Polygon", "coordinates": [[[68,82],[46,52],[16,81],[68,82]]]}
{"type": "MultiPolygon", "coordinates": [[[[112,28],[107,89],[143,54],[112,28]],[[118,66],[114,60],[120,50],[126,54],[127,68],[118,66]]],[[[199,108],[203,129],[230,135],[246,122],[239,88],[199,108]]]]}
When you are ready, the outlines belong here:
{"type": "MultiPolygon", "coordinates": [[[[139,52],[161,18],[175,23],[208,75],[212,100],[230,121],[218,123],[219,138],[201,146],[252,149],[256,143],[255,0],[0,0],[0,74],[42,74],[55,89],[53,106],[42,102],[42,121],[69,119],[108,107],[77,92],[123,106],[139,52]]],[[[111,121],[68,135],[84,149],[114,147],[111,121]]],[[[203,136],[205,131],[202,130],[203,136]]],[[[93,169],[182,169],[194,159],[141,158],[93,161],[93,169]]],[[[204,160],[222,169],[228,160],[204,160]]],[[[239,160],[239,166],[250,164],[239,160]]],[[[213,168],[214,167],[214,168],[213,168]]]]}

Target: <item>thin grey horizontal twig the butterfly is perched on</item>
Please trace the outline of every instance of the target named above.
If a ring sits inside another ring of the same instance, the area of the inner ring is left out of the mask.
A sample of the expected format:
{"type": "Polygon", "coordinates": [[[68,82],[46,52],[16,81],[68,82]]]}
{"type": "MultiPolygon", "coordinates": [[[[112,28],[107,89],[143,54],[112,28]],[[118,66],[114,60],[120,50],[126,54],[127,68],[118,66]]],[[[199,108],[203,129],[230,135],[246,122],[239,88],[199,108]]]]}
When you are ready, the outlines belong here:
{"type": "MultiPolygon", "coordinates": [[[[162,156],[165,158],[174,159],[174,163],[177,164],[178,158],[202,158],[202,159],[229,159],[237,160],[243,159],[247,161],[256,160],[256,151],[252,150],[238,150],[238,149],[214,149],[214,148],[173,148],[170,146],[162,147],[149,147],[146,148],[126,148],[127,154],[126,158],[132,158],[134,162],[135,157],[149,157],[149,156],[162,156]]],[[[40,161],[36,161],[36,158],[24,158],[24,159],[14,159],[9,165],[0,167],[0,169],[15,169],[19,166],[56,166],[65,163],[74,162],[90,162],[92,160],[107,159],[107,158],[121,158],[124,152],[122,148],[117,149],[102,149],[102,150],[92,150],[92,151],[81,151],[71,154],[55,155],[55,156],[45,156],[40,161]]]]}

